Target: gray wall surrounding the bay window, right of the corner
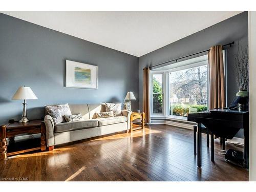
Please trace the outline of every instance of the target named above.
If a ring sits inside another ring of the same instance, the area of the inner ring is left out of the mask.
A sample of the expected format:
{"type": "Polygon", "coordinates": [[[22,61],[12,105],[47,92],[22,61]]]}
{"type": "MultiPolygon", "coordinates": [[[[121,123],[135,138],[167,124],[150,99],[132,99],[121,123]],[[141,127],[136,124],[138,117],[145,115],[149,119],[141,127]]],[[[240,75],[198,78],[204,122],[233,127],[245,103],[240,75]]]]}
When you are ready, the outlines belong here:
{"type": "MultiPolygon", "coordinates": [[[[178,27],[176,28],[174,26],[174,30],[176,29],[179,30],[178,27]]],[[[166,33],[168,33],[168,31],[166,31],[166,33]]],[[[232,41],[235,42],[232,47],[225,47],[227,50],[227,105],[230,105],[234,96],[238,92],[236,78],[234,76],[233,54],[237,52],[238,41],[240,41],[244,49],[248,45],[248,12],[243,12],[230,17],[214,26],[208,27],[202,31],[189,35],[173,42],[172,44],[139,57],[139,95],[141,96],[139,100],[140,110],[143,108],[142,91],[144,67],[153,66],[157,63],[207,50],[214,45],[225,45],[232,41]]],[[[204,54],[206,53],[202,53],[194,57],[204,54]]],[[[167,65],[169,64],[170,63],[167,63],[167,65]]]]}

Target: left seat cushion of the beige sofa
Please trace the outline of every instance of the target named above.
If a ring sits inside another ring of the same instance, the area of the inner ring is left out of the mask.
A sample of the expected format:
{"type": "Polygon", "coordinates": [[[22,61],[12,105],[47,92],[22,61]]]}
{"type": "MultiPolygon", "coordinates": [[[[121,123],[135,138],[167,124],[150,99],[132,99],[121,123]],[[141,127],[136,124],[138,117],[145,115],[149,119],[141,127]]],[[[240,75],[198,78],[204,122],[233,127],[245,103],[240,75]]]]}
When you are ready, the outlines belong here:
{"type": "Polygon", "coordinates": [[[59,123],[54,126],[55,133],[87,129],[98,126],[97,119],[59,123]]]}

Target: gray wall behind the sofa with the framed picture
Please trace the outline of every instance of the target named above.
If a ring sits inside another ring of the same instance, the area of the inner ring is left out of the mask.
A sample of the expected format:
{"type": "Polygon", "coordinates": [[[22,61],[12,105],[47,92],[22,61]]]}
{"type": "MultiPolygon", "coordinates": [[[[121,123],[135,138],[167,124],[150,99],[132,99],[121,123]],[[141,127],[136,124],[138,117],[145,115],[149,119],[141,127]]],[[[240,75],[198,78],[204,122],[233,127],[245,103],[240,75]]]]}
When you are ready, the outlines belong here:
{"type": "Polygon", "coordinates": [[[23,101],[11,100],[20,86],[38,97],[27,101],[28,118],[40,119],[45,104],[138,98],[138,77],[138,57],[0,13],[0,124],[21,118],[23,101]],[[66,59],[98,66],[98,89],[66,88],[66,59]]]}

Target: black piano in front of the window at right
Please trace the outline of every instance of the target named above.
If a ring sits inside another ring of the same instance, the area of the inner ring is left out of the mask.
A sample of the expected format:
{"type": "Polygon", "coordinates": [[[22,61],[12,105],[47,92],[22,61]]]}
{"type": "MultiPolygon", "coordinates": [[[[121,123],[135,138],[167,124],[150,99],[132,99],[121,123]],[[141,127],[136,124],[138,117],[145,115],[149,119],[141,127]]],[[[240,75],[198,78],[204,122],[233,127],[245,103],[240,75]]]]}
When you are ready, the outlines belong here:
{"type": "Polygon", "coordinates": [[[188,121],[198,123],[198,137],[197,137],[197,165],[202,165],[202,124],[207,127],[212,134],[232,139],[240,129],[244,129],[244,153],[243,153],[243,166],[248,168],[249,159],[249,112],[237,111],[236,97],[233,103],[227,109],[215,109],[199,113],[189,113],[187,116],[188,121]]]}

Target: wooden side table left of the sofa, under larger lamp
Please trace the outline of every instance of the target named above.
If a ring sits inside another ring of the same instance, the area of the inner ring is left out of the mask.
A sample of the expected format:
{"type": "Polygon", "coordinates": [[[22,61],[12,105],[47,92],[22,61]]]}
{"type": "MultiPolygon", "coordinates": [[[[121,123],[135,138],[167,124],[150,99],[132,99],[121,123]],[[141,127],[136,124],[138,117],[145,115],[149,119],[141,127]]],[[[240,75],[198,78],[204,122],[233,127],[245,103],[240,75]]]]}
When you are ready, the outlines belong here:
{"type": "Polygon", "coordinates": [[[27,123],[9,123],[7,125],[0,126],[0,160],[7,158],[7,156],[16,155],[20,153],[31,152],[35,150],[46,151],[46,126],[41,120],[31,120],[27,123]],[[9,138],[9,143],[14,142],[15,136],[19,134],[41,134],[40,146],[34,148],[28,148],[26,150],[11,152],[7,151],[7,141],[9,138]]]}

